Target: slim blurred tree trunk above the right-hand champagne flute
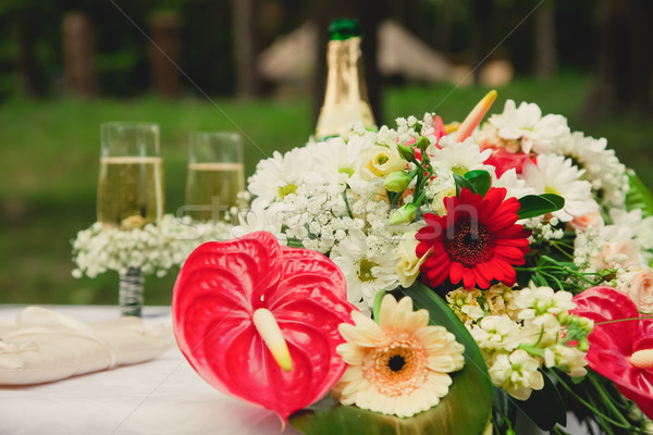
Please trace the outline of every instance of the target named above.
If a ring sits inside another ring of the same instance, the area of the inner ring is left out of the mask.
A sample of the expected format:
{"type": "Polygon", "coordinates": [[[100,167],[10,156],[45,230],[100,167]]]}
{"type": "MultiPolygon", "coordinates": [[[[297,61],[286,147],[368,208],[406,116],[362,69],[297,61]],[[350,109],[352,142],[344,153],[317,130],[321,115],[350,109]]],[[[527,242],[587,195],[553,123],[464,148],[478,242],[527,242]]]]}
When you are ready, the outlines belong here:
{"type": "Polygon", "coordinates": [[[236,97],[252,98],[259,94],[256,70],[257,32],[256,0],[233,0],[234,55],[236,58],[236,97]]]}

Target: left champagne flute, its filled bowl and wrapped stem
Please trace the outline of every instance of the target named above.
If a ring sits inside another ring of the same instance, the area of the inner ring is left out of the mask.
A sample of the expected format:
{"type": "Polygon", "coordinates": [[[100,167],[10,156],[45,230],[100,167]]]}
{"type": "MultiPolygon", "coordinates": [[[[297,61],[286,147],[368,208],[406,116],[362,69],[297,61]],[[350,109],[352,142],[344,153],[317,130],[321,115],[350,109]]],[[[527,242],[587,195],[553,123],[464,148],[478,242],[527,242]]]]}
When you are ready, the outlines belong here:
{"type": "MultiPolygon", "coordinates": [[[[159,126],[111,122],[100,126],[98,221],[123,231],[158,223],[163,216],[163,160],[159,126]]],[[[120,272],[122,315],[140,315],[144,278],[139,268],[120,272]]]]}

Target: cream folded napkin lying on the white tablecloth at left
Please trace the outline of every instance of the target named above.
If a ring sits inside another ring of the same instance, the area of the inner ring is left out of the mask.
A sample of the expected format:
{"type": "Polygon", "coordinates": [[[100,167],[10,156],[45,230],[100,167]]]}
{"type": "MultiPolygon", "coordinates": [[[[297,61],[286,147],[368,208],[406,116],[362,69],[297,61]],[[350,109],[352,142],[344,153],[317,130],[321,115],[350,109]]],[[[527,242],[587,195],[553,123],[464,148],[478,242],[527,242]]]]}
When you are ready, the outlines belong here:
{"type": "Polygon", "coordinates": [[[171,327],[146,330],[139,318],[82,323],[40,307],[0,323],[0,385],[40,384],[135,364],[174,344],[171,327]]]}

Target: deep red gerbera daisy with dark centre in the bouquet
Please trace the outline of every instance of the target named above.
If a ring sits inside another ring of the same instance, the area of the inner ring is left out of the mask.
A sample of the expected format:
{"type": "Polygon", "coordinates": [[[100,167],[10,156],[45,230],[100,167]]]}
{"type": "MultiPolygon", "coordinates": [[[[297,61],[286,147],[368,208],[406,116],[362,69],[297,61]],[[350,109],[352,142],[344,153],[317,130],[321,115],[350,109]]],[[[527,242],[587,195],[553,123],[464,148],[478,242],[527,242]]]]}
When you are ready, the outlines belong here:
{"type": "Polygon", "coordinates": [[[513,265],[523,264],[530,231],[516,224],[519,201],[506,189],[492,187],[484,197],[461,189],[460,197],[446,198],[446,215],[424,214],[428,226],[416,238],[418,257],[433,248],[420,271],[431,287],[449,278],[463,279],[465,288],[489,288],[492,279],[515,284],[513,265]]]}

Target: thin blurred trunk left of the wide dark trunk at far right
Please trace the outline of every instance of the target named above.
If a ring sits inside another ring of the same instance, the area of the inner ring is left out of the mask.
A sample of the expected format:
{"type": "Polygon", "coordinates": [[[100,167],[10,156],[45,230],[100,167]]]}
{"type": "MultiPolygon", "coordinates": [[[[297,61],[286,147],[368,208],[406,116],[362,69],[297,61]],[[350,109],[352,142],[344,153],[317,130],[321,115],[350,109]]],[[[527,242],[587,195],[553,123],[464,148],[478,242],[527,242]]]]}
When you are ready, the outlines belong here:
{"type": "Polygon", "coordinates": [[[533,72],[538,77],[547,78],[557,73],[555,50],[555,3],[545,1],[535,11],[535,58],[533,72]]]}

